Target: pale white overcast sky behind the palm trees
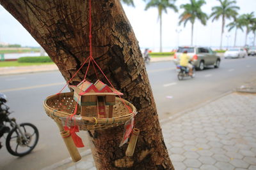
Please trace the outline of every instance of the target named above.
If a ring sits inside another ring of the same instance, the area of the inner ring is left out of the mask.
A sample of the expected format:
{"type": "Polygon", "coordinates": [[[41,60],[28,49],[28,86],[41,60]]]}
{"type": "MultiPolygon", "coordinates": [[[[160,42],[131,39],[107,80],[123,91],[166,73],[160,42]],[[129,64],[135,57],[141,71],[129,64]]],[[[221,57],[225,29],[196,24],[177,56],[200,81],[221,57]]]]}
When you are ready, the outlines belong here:
{"type": "MultiPolygon", "coordinates": [[[[189,3],[189,0],[177,0],[175,5],[179,8],[180,4],[189,3]]],[[[145,11],[145,2],[142,0],[134,0],[135,8],[124,4],[125,13],[132,25],[136,38],[141,48],[150,48],[152,51],[159,50],[159,20],[157,8],[149,8],[145,11]]],[[[218,6],[217,0],[206,0],[206,4],[202,6],[202,11],[211,14],[212,6],[218,6]]],[[[239,15],[255,11],[256,0],[237,0],[237,6],[240,7],[239,15]]],[[[178,13],[168,9],[167,13],[163,13],[163,51],[170,51],[177,46],[190,45],[191,42],[191,24],[188,22],[186,27],[179,25],[179,15],[182,13],[179,8],[178,13]]],[[[256,15],[256,13],[255,13],[256,15]]],[[[228,24],[232,20],[227,20],[228,24]]],[[[234,46],[235,31],[228,32],[225,28],[223,34],[223,46],[234,46]]],[[[212,22],[207,21],[207,25],[202,25],[196,20],[194,25],[193,45],[212,46],[218,48],[220,46],[221,36],[221,20],[212,22]]],[[[248,35],[248,44],[252,44],[253,34],[248,35]]],[[[4,10],[0,5],[0,42],[10,44],[20,44],[22,46],[39,46],[35,39],[29,34],[15,18],[4,10]]],[[[245,30],[237,31],[237,46],[243,46],[245,42],[245,30]]]]}

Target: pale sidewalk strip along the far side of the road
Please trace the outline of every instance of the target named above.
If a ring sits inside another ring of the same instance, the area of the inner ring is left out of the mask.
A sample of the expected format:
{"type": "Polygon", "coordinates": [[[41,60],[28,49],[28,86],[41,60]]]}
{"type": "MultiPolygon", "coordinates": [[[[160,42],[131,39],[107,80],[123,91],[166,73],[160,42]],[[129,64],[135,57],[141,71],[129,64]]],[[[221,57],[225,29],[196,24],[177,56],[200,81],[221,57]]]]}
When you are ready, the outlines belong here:
{"type": "MultiPolygon", "coordinates": [[[[151,62],[161,62],[173,60],[173,57],[152,57],[151,62]]],[[[20,67],[0,67],[0,76],[9,74],[36,73],[43,71],[56,71],[55,64],[45,64],[40,66],[20,66],[20,67]]]]}

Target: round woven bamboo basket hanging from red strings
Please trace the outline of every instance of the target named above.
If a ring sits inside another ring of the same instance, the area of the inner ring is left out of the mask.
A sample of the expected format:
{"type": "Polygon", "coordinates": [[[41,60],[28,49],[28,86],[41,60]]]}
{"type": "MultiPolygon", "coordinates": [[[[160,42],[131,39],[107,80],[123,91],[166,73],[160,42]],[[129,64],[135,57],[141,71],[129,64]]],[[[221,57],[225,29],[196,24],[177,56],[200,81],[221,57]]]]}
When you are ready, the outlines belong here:
{"type": "MultiPolygon", "coordinates": [[[[68,117],[74,113],[76,101],[73,96],[73,92],[67,92],[47,97],[44,101],[45,112],[55,122],[61,123],[60,118],[68,117]]],[[[78,109],[77,114],[79,114],[79,111],[78,109]]],[[[92,117],[81,117],[81,120],[77,121],[76,125],[79,126],[81,131],[108,129],[125,124],[135,114],[136,108],[131,103],[116,97],[112,118],[98,118],[95,116],[97,113],[95,113],[94,115],[89,115],[92,117]],[[129,112],[124,103],[131,108],[132,113],[129,112]]]]}

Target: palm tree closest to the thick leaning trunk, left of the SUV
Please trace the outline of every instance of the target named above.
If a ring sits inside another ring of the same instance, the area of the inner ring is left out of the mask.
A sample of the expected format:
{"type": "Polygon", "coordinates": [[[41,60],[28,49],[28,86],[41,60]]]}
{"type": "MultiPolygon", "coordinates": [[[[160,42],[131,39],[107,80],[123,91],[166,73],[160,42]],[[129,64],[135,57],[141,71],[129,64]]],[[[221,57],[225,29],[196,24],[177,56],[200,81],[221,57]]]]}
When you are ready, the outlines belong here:
{"type": "Polygon", "coordinates": [[[177,12],[177,7],[175,6],[176,0],[144,0],[147,1],[145,10],[148,10],[150,7],[157,7],[158,9],[158,18],[160,20],[160,52],[162,52],[162,14],[163,11],[167,13],[167,8],[171,8],[177,12]]]}

